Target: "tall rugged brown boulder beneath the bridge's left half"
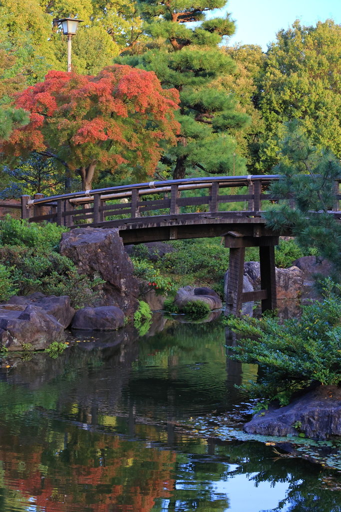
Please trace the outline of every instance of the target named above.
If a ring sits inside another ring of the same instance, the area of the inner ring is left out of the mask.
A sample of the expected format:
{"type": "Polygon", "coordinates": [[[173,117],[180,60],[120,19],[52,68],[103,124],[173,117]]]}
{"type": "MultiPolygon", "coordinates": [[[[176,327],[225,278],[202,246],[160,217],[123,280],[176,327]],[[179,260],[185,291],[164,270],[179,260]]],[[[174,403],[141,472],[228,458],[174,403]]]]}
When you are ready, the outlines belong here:
{"type": "Polygon", "coordinates": [[[117,306],[127,315],[139,308],[139,281],[118,229],[72,229],[62,234],[60,253],[77,265],[78,273],[105,281],[101,298],[92,306],[117,306]]]}

